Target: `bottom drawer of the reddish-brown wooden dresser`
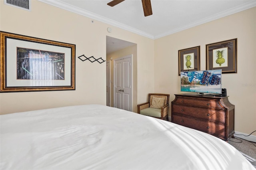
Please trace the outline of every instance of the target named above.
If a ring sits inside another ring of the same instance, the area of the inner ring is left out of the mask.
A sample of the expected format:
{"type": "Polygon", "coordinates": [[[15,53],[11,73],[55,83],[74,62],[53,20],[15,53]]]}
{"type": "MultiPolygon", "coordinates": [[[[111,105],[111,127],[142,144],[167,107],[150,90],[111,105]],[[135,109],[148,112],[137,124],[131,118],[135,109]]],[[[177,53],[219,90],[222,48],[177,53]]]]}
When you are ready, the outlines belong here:
{"type": "Polygon", "coordinates": [[[201,121],[179,115],[172,115],[172,122],[185,127],[194,128],[203,132],[214,134],[215,136],[226,136],[225,125],[201,121]]]}

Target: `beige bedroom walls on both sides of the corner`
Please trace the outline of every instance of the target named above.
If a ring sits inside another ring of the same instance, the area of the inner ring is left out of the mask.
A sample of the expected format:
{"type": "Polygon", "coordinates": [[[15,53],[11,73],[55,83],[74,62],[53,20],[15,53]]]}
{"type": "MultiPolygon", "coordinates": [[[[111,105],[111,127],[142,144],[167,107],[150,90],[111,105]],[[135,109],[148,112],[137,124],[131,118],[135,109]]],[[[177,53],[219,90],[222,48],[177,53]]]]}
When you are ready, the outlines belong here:
{"type": "Polygon", "coordinates": [[[106,62],[77,58],[84,54],[106,60],[106,36],[137,44],[137,65],[133,65],[137,68],[137,75],[133,75],[137,76],[137,101],[133,111],[137,103],[146,102],[148,93],[169,93],[170,101],[180,93],[179,49],[200,45],[201,69],[206,69],[206,44],[238,38],[238,73],[224,74],[222,86],[236,108],[235,130],[249,134],[256,129],[256,8],[151,40],[36,0],[31,6],[28,12],[0,1],[0,30],[76,44],[76,90],[0,93],[1,114],[66,105],[106,105],[106,62]],[[107,32],[108,27],[112,33],[107,32]]]}

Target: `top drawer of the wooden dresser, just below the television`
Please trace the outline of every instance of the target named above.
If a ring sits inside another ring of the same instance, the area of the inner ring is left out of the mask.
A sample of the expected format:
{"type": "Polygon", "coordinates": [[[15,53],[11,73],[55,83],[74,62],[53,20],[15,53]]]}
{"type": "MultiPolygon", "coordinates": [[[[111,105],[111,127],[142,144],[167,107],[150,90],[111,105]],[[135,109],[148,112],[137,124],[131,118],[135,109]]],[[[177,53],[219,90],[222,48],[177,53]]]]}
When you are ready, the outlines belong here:
{"type": "Polygon", "coordinates": [[[189,98],[177,98],[175,103],[180,103],[182,105],[194,105],[199,107],[206,107],[206,108],[215,108],[215,109],[222,109],[218,104],[218,101],[214,100],[207,100],[207,99],[189,99],[189,98]]]}

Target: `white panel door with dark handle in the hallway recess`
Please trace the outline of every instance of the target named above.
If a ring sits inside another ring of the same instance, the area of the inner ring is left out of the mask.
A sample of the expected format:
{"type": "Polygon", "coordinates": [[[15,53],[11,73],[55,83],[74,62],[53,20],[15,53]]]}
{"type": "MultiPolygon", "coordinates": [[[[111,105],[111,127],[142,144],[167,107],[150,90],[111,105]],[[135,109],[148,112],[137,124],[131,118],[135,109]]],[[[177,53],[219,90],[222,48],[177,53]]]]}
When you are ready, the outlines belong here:
{"type": "Polygon", "coordinates": [[[132,111],[132,55],[114,60],[114,107],[132,111]]]}

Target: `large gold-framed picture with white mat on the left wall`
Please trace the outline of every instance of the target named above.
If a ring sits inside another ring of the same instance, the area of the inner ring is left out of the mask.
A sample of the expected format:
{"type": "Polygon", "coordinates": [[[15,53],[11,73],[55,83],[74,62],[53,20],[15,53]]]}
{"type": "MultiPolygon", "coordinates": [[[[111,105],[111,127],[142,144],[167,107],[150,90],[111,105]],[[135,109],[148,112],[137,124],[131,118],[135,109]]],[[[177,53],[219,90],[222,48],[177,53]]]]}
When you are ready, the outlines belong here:
{"type": "Polygon", "coordinates": [[[76,45],[8,32],[0,38],[0,92],[75,90],[76,45]]]}

